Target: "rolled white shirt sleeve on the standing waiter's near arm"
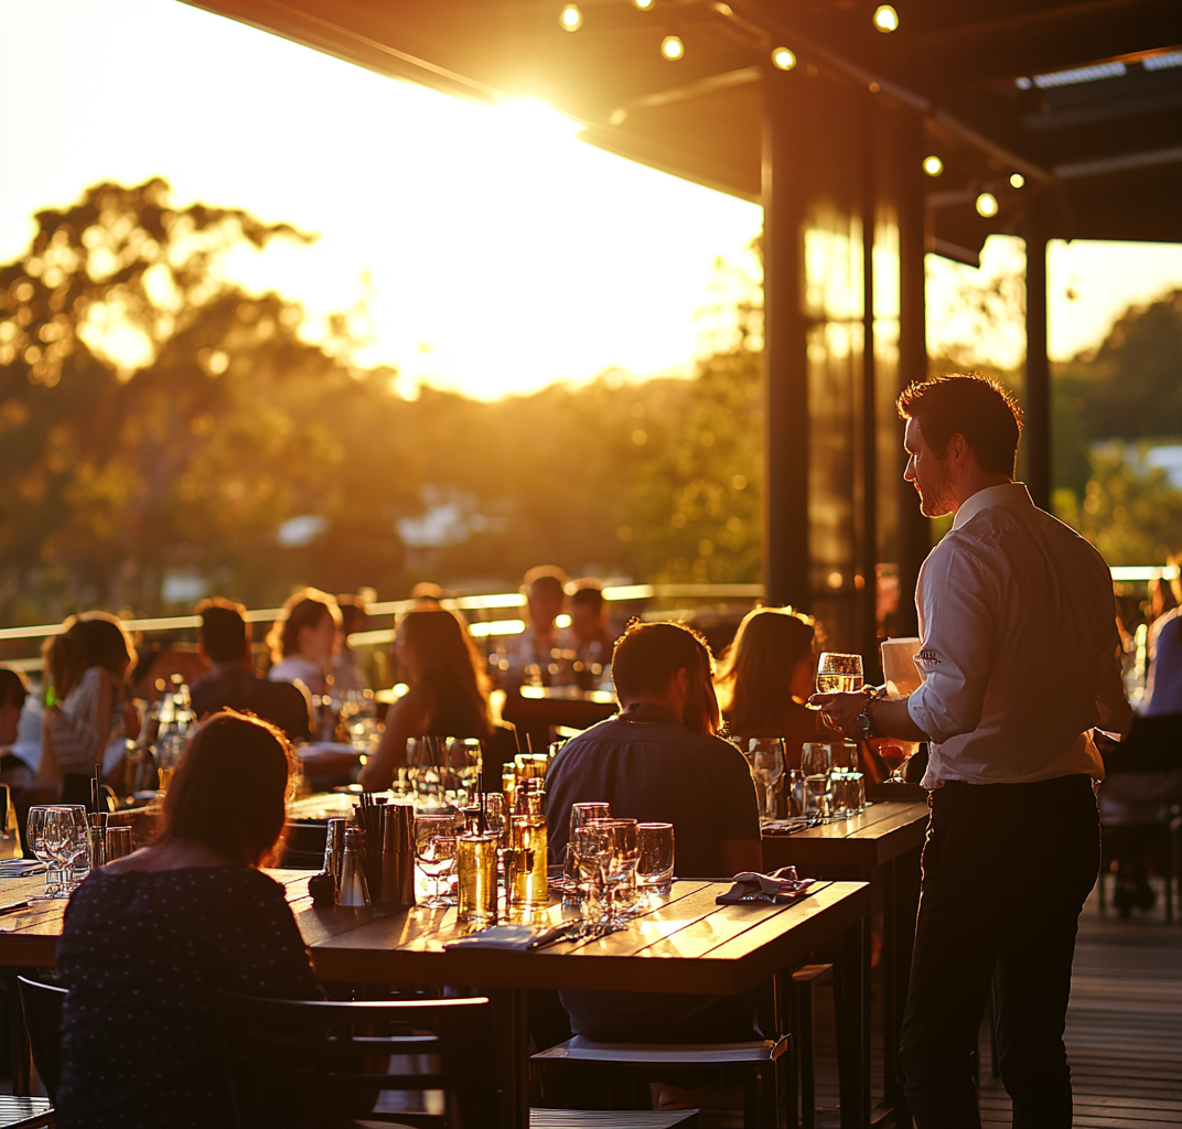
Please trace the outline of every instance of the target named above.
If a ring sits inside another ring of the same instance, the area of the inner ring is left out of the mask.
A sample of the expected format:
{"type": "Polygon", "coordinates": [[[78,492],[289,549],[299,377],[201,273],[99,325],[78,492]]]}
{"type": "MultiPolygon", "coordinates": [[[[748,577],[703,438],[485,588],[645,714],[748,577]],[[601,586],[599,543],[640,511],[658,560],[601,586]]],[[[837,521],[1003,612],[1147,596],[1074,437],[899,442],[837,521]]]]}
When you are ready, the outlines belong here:
{"type": "Polygon", "coordinates": [[[981,722],[995,650],[995,586],[972,553],[931,553],[920,573],[920,651],[923,686],[908,699],[911,720],[943,744],[981,722]]]}

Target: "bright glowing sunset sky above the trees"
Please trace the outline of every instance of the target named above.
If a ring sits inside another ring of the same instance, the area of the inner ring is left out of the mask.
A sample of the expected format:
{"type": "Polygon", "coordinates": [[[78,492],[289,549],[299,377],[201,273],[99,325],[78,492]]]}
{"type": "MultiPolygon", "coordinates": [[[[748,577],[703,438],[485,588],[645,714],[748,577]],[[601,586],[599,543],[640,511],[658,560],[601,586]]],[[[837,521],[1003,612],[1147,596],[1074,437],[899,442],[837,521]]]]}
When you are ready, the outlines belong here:
{"type": "MultiPolygon", "coordinates": [[[[364,303],[358,363],[398,368],[405,391],[482,398],[608,368],[688,372],[715,260],[751,267],[761,222],[537,104],[474,105],[177,0],[0,0],[0,261],[27,247],[34,212],[156,175],[176,206],[317,233],[226,271],[313,318],[364,303]]],[[[1177,246],[1053,246],[1052,356],[1173,286],[1177,246]]],[[[955,311],[933,313],[939,340],[955,311]]]]}

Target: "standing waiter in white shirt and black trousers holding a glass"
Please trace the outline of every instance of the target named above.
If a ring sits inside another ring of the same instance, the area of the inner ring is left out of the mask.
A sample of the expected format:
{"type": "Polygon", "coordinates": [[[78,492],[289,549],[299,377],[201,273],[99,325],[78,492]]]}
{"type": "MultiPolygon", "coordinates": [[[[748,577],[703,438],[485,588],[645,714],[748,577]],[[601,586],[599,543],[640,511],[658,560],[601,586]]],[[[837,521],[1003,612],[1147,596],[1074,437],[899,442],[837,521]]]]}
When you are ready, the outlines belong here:
{"type": "Polygon", "coordinates": [[[904,1092],[918,1129],[979,1129],[970,1056],[992,982],[1015,1129],[1070,1129],[1063,1029],[1099,868],[1092,729],[1131,722],[1111,576],[1014,482],[1021,424],[1004,389],[940,377],[898,411],[922,512],[955,514],[916,584],[924,684],[813,702],[851,735],[930,741],[904,1092]]]}

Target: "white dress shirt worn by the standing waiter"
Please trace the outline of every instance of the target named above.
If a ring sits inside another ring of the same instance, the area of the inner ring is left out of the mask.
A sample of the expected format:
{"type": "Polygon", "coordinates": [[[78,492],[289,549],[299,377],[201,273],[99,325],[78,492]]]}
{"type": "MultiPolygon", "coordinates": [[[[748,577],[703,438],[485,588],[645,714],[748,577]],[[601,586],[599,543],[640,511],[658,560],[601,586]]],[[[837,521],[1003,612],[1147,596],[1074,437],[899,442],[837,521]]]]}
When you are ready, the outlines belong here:
{"type": "Polygon", "coordinates": [[[1112,577],[1084,538],[1021,482],[991,486],[956,512],[915,601],[924,683],[908,709],[931,741],[924,787],[1103,779],[1091,731],[1124,733],[1132,711],[1112,577]]]}

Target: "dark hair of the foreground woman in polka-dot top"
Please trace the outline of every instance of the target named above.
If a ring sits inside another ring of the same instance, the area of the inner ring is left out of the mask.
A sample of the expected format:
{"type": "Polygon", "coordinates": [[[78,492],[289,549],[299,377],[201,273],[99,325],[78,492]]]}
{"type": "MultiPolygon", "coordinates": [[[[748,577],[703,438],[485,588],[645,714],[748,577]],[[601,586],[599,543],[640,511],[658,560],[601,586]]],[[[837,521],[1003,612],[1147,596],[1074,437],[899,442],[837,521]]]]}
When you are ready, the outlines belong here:
{"type": "Polygon", "coordinates": [[[258,867],[284,830],[296,751],[284,732],[227,709],[197,726],[164,797],[157,842],[201,843],[258,867]]]}

